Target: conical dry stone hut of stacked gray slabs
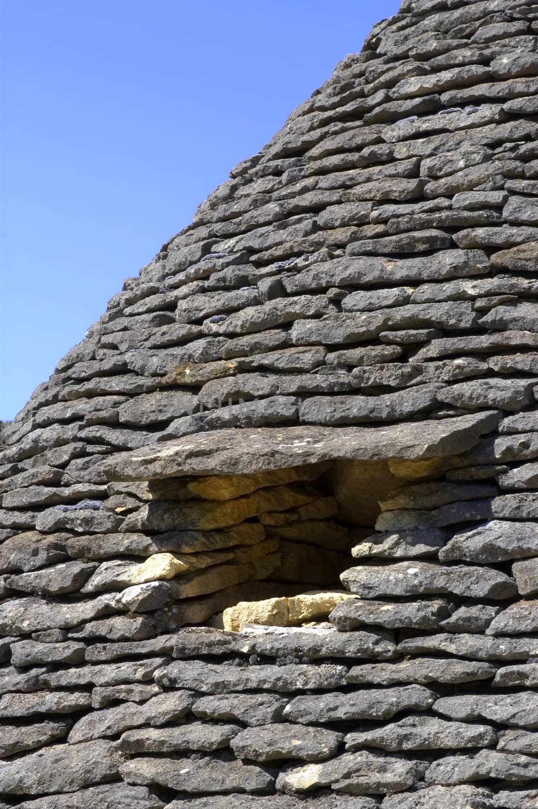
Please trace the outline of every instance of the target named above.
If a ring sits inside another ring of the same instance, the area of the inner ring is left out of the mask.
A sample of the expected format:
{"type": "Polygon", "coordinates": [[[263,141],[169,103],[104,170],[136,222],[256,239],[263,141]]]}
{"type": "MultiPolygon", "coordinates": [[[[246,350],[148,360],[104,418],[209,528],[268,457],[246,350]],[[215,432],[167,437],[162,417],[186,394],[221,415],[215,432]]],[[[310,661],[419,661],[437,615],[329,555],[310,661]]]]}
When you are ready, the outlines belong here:
{"type": "Polygon", "coordinates": [[[538,807],[537,90],[405,0],[2,431],[2,807],[538,807]]]}

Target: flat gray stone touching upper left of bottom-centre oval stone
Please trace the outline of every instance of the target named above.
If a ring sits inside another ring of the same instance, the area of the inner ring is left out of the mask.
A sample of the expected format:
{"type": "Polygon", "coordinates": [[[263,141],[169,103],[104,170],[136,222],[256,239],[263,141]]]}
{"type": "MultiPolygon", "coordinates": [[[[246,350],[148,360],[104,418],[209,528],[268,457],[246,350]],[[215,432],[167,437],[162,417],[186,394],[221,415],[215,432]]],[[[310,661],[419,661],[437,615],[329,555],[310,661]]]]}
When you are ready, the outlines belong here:
{"type": "MultiPolygon", "coordinates": [[[[227,748],[241,731],[239,725],[190,722],[176,727],[144,728],[126,731],[116,743],[116,748],[125,753],[173,753],[201,750],[213,752],[227,748]]],[[[245,757],[245,756],[242,756],[245,757]]],[[[254,758],[254,756],[246,756],[254,758]]]]}

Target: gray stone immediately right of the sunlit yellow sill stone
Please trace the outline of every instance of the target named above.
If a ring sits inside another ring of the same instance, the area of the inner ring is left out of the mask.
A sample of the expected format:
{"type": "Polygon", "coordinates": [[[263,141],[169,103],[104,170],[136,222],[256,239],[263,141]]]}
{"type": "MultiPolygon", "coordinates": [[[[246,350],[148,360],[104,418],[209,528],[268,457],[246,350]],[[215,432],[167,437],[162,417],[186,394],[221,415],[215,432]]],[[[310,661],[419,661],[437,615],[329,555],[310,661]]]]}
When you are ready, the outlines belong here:
{"type": "Polygon", "coordinates": [[[385,629],[438,629],[440,621],[450,615],[443,599],[409,602],[345,601],[333,609],[329,620],[339,632],[352,632],[371,624],[385,629]]]}

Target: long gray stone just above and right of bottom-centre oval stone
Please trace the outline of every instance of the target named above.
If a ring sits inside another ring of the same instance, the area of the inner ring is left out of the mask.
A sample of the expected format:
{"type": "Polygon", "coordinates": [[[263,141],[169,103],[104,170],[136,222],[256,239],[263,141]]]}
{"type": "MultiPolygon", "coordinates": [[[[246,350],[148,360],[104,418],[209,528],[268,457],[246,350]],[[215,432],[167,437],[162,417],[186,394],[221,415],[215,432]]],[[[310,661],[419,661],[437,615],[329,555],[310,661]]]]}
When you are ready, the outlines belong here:
{"type": "Polygon", "coordinates": [[[333,692],[294,697],[284,709],[291,722],[346,722],[351,719],[391,719],[402,710],[428,710],[436,695],[422,685],[333,692]]]}

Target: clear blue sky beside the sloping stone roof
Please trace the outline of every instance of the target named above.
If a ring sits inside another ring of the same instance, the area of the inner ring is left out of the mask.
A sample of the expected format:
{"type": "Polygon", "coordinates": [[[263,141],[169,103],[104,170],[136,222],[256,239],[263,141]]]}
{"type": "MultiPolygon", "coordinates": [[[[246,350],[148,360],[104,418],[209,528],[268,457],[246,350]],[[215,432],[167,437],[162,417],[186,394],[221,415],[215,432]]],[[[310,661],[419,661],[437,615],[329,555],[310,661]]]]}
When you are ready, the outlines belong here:
{"type": "Polygon", "coordinates": [[[0,0],[0,419],[398,0],[0,0]]]}

